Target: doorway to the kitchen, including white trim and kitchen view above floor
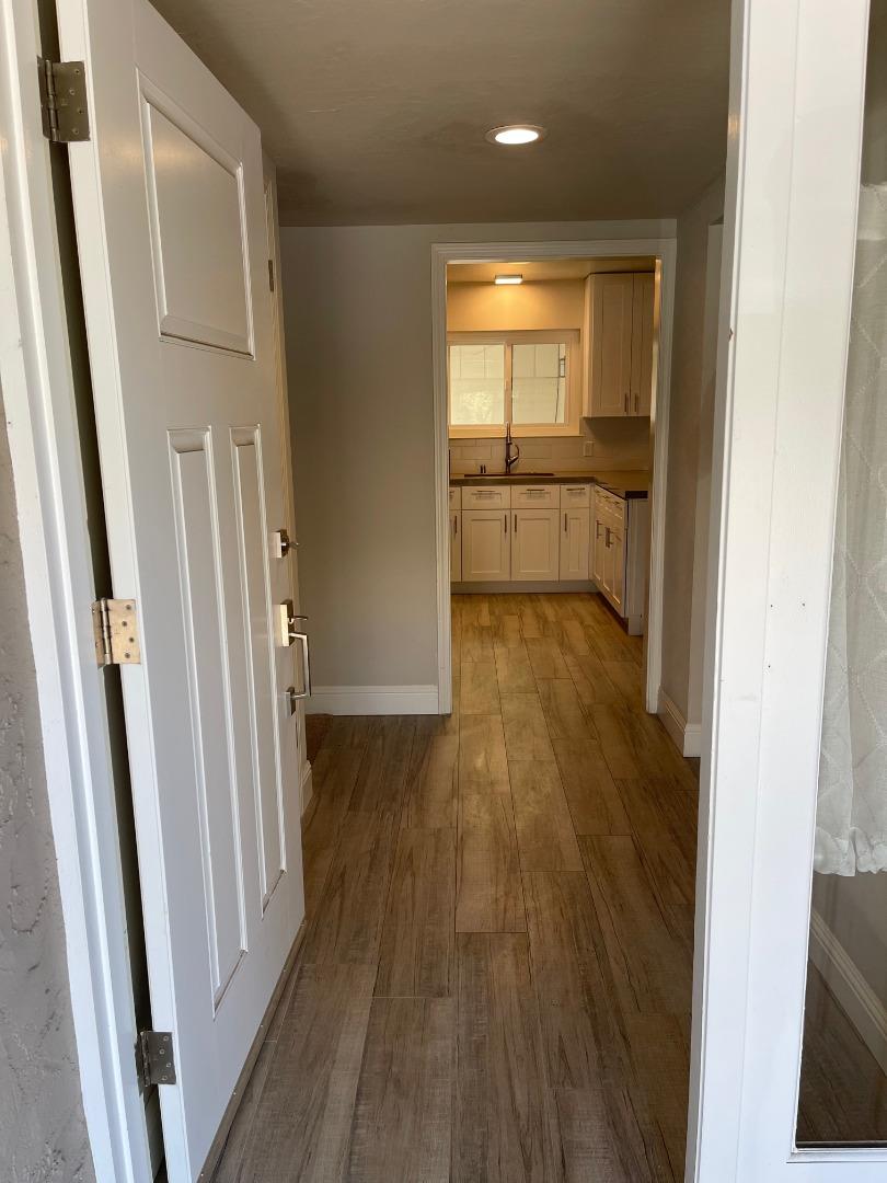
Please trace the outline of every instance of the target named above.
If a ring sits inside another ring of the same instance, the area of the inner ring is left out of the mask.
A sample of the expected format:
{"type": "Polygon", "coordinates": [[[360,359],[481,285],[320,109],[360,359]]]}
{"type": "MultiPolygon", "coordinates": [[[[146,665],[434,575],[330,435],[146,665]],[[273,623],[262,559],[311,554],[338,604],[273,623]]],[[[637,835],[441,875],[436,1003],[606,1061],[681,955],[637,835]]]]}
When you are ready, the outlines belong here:
{"type": "Polygon", "coordinates": [[[660,710],[674,259],[674,239],[433,247],[442,713],[453,588],[602,593],[660,710]]]}

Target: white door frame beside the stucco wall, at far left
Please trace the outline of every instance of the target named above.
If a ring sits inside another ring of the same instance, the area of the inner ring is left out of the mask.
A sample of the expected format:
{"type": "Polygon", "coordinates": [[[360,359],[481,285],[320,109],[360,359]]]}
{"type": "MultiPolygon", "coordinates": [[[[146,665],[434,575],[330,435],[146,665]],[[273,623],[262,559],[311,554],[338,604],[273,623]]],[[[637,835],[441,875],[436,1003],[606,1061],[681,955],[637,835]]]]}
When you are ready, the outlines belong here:
{"type": "Polygon", "coordinates": [[[0,0],[0,382],[86,1129],[97,1178],[151,1183],[37,28],[0,0]]]}

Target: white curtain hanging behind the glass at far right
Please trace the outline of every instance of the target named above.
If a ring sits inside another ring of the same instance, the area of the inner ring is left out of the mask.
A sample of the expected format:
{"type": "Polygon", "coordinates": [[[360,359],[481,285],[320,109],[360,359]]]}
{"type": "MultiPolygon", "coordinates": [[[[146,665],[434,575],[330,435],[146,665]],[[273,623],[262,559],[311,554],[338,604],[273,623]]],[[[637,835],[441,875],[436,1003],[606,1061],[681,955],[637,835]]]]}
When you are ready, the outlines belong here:
{"type": "MultiPolygon", "coordinates": [[[[815,426],[815,425],[811,425],[815,426]]],[[[814,866],[887,871],[887,186],[862,186],[814,866]]]]}

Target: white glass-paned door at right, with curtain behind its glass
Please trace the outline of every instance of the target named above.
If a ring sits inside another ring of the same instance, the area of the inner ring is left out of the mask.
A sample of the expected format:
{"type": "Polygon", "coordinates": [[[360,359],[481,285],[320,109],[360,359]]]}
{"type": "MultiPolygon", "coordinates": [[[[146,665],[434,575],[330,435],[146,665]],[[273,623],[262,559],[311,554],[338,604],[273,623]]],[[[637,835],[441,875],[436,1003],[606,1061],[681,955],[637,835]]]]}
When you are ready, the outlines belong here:
{"type": "Polygon", "coordinates": [[[887,545],[872,463],[887,14],[870,11],[869,32],[867,0],[736,6],[687,1172],[701,1183],[887,1178],[887,545]],[[823,894],[843,903],[823,912],[823,894]]]}

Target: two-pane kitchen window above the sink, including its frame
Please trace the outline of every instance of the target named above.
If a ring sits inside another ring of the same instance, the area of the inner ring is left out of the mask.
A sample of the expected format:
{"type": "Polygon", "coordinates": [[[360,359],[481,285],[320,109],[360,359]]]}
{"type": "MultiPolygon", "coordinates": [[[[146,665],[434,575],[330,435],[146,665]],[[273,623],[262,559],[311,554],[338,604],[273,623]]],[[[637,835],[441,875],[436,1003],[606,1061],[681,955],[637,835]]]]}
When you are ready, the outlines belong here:
{"type": "Polygon", "coordinates": [[[578,332],[451,332],[449,434],[578,435],[578,332]]]}

